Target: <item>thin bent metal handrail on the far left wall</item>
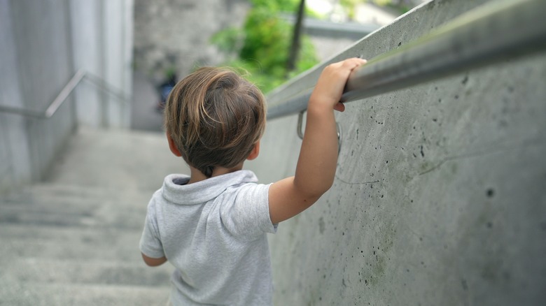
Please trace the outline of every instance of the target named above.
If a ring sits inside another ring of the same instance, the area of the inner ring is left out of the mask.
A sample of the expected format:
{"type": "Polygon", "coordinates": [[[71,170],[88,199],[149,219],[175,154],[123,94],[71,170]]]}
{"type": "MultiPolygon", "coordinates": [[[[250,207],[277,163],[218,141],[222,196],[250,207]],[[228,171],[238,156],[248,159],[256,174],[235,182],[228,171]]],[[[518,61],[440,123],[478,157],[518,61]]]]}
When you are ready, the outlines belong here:
{"type": "Polygon", "coordinates": [[[123,92],[120,92],[115,87],[112,87],[108,83],[106,83],[105,80],[102,80],[102,78],[97,77],[97,75],[92,75],[91,73],[88,73],[86,71],[83,71],[83,69],[79,69],[76,71],[76,73],[73,75],[73,77],[69,80],[69,82],[64,85],[63,89],[57,97],[50,103],[48,108],[45,109],[45,111],[39,111],[39,110],[32,110],[30,108],[15,108],[13,106],[8,105],[0,105],[0,112],[9,112],[11,114],[15,115],[22,115],[26,117],[34,117],[38,119],[48,119],[55,115],[55,112],[61,107],[62,103],[68,99],[70,94],[76,89],[78,84],[82,80],[87,80],[94,85],[96,85],[99,89],[102,91],[112,94],[113,96],[116,96],[121,101],[127,103],[128,99],[125,97],[125,94],[123,92]]]}

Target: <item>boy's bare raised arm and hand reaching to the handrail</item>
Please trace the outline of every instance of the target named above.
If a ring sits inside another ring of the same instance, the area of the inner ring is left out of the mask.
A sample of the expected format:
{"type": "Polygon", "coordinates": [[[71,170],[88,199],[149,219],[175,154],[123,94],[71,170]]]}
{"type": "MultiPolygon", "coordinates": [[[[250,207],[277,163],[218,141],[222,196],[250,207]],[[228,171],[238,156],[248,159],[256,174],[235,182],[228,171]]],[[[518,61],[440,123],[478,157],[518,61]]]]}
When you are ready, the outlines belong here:
{"type": "Polygon", "coordinates": [[[273,224],[294,217],[313,205],[334,182],[337,166],[337,131],[334,110],[351,71],[365,63],[351,58],[324,68],[307,106],[307,124],[295,176],[269,187],[269,215],[273,224]]]}

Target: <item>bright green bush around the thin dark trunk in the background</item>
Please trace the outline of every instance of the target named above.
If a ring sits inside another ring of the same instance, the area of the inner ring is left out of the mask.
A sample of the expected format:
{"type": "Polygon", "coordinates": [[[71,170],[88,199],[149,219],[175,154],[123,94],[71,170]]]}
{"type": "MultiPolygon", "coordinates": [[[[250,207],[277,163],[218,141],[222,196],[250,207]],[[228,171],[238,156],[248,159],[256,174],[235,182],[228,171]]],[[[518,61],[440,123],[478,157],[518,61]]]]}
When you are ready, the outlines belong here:
{"type": "Polygon", "coordinates": [[[299,0],[251,0],[242,29],[230,28],[215,34],[211,43],[227,54],[235,55],[225,66],[248,71],[248,79],[263,92],[269,92],[288,76],[305,71],[318,63],[314,46],[302,37],[296,70],[288,73],[286,63],[293,26],[279,18],[279,13],[297,10],[299,0]]]}

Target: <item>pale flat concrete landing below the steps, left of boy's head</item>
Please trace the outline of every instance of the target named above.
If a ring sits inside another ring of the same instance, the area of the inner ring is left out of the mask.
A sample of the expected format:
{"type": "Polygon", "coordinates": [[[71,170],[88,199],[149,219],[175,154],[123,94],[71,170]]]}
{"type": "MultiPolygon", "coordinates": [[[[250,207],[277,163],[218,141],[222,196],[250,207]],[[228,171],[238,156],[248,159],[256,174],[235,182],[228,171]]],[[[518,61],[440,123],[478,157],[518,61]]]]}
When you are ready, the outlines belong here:
{"type": "Polygon", "coordinates": [[[170,152],[164,133],[80,128],[48,180],[153,191],[170,173],[189,173],[189,169],[170,152]]]}

